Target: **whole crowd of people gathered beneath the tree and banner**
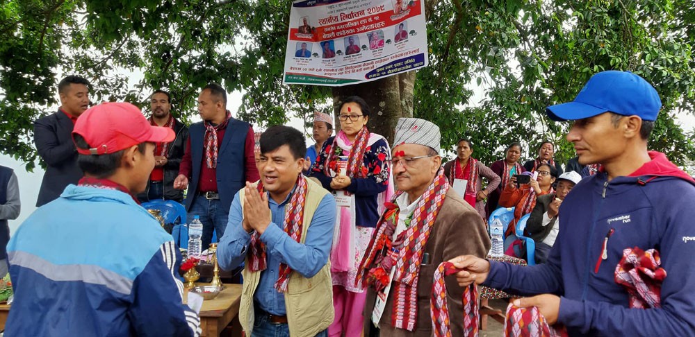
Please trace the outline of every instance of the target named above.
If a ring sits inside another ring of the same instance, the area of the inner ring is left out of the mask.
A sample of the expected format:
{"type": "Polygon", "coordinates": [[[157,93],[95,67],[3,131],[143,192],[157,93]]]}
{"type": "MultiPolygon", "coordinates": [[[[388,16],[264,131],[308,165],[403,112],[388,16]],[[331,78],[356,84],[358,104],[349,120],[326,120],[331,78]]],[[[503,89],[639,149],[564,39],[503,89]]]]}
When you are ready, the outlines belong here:
{"type": "MultiPolygon", "coordinates": [[[[695,332],[695,268],[683,258],[695,251],[695,180],[647,150],[661,102],[635,74],[603,71],[573,102],[548,107],[550,119],[573,121],[577,157],[564,172],[549,141],[523,165],[513,143],[487,166],[462,138],[443,163],[439,127],[423,119],[399,119],[389,144],[370,132],[358,96],[341,100],[336,119],[316,112],[307,147],[295,128],[258,135],[231,117],[219,85],[201,90],[202,121],[190,126],[163,90],[145,118],[129,103],[88,108],[88,87],[63,79],[58,112],[35,122],[48,165],[40,207],[0,261],[15,290],[12,336],[198,336],[179,250],[138,205],[161,199],[202,221],[203,247],[217,233],[222,269],[243,268],[246,336],[461,336],[473,329],[471,284],[525,296],[513,306],[570,336],[695,332]],[[507,247],[528,215],[535,266],[486,258],[487,219],[500,207],[514,207],[507,247]],[[442,268],[456,273],[437,279],[442,268]],[[631,268],[652,273],[618,282],[631,268]],[[645,284],[646,295],[634,290],[645,284]]],[[[18,199],[0,166],[5,230],[18,199]]]]}

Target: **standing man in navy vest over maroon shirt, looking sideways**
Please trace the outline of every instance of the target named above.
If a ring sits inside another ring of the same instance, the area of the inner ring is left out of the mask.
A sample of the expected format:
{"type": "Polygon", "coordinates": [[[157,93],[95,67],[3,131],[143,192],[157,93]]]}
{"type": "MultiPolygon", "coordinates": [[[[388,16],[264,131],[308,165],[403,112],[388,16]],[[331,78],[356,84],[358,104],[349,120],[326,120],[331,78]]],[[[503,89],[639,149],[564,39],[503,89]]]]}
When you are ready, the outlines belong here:
{"type": "Polygon", "coordinates": [[[254,157],[254,130],[249,123],[231,117],[227,93],[216,84],[203,88],[198,96],[202,122],[188,129],[186,153],[181,159],[174,189],[186,189],[184,204],[188,223],[199,216],[203,223],[203,249],[224,234],[234,195],[246,182],[259,180],[254,157]],[[190,183],[190,185],[189,185],[190,183]]]}

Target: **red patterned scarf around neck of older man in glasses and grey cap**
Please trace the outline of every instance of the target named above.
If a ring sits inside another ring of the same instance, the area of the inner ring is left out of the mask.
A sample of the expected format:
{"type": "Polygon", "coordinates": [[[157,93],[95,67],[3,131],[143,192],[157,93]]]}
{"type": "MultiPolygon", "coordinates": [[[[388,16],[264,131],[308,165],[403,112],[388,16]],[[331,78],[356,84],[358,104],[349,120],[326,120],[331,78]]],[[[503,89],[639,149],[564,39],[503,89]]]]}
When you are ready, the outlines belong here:
{"type": "MultiPolygon", "coordinates": [[[[418,320],[418,276],[425,245],[430,239],[432,225],[443,205],[449,183],[443,168],[434,178],[430,187],[411,216],[411,223],[393,241],[393,233],[398,224],[400,209],[395,204],[398,193],[391,202],[386,203],[386,211],[379,218],[375,235],[372,237],[357,270],[358,279],[381,291],[391,282],[393,289],[393,311],[391,325],[398,329],[414,331],[418,320]],[[393,252],[384,255],[386,250],[393,252]],[[393,280],[389,279],[391,268],[395,267],[393,280]]],[[[356,283],[359,281],[356,281],[356,283]]]]}

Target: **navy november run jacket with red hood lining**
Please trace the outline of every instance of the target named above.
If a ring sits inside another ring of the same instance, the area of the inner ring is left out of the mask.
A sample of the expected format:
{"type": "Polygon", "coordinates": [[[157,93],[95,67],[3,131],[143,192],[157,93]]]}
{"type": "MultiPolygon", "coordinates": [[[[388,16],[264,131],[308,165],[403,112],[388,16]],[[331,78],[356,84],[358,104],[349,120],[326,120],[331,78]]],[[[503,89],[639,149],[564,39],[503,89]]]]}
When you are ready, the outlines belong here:
{"type": "Polygon", "coordinates": [[[559,209],[548,263],[491,261],[486,286],[560,296],[557,321],[570,336],[695,335],[695,181],[662,153],[630,176],[598,173],[579,182],[559,209]],[[655,248],[667,277],[660,309],[630,309],[615,282],[626,248],[655,248]]]}

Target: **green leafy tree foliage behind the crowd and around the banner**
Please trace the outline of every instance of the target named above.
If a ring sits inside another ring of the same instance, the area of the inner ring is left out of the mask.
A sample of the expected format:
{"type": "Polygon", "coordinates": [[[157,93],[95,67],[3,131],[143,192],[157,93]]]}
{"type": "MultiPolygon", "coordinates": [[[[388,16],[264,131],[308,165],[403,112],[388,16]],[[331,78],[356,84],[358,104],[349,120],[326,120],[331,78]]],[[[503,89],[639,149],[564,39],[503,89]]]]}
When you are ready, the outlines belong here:
{"type": "MultiPolygon", "coordinates": [[[[375,107],[383,107],[379,95],[400,91],[389,94],[395,101],[384,100],[398,107],[374,116],[370,128],[392,128],[398,116],[414,114],[441,126],[444,148],[470,138],[474,156],[488,164],[512,141],[534,157],[543,139],[555,141],[566,162],[573,156],[564,140],[568,125],[546,119],[545,107],[571,101],[597,71],[620,69],[643,76],[662,97],[650,147],[681,164],[695,158],[692,131],[674,118],[695,105],[693,1],[423,1],[430,66],[418,71],[414,86],[407,76],[364,85],[375,93],[375,107]]],[[[290,6],[286,0],[1,2],[0,152],[33,168],[31,121],[59,104],[56,78],[67,74],[90,79],[95,102],[143,106],[152,90],[168,89],[183,119],[195,114],[199,88],[209,82],[243,92],[238,115],[256,125],[335,108],[339,96],[360,86],[281,85],[290,6]],[[129,87],[132,76],[142,80],[129,87]]]]}

